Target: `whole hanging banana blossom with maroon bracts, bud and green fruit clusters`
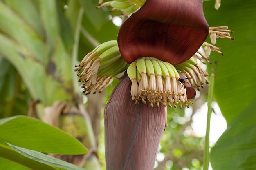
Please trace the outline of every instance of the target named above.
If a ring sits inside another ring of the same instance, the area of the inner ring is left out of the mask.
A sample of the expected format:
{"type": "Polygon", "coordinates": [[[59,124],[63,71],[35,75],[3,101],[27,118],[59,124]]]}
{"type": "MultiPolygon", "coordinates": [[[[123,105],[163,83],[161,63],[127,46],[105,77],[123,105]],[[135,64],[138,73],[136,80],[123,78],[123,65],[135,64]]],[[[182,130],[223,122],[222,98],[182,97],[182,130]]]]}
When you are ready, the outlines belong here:
{"type": "MultiPolygon", "coordinates": [[[[216,38],[234,40],[227,26],[209,27],[201,0],[143,3],[121,0],[99,4],[112,5],[124,11],[123,15],[138,10],[122,24],[117,42],[97,46],[76,65],[75,71],[82,70],[78,77],[85,94],[100,93],[115,75],[127,69],[104,111],[107,170],[153,169],[166,125],[164,107],[189,107],[194,88],[208,84],[208,73],[196,59],[210,63],[211,51],[223,54],[211,45],[216,44],[216,38]],[[208,35],[211,44],[204,42],[208,35]],[[186,88],[185,79],[191,87],[186,88]]],[[[206,157],[205,165],[208,162],[206,157]]]]}

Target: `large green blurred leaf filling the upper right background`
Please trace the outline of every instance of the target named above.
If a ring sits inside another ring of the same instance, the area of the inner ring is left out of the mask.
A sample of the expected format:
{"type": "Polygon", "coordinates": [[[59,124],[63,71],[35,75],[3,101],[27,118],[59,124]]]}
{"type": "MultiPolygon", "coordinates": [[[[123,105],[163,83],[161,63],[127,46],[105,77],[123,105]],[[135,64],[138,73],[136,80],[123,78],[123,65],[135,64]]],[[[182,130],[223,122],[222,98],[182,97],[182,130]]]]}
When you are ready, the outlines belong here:
{"type": "Polygon", "coordinates": [[[253,49],[256,44],[256,1],[225,0],[218,11],[214,9],[214,1],[210,1],[204,2],[204,9],[210,26],[228,25],[230,30],[234,30],[231,33],[234,41],[217,40],[216,46],[220,46],[225,55],[211,53],[211,61],[218,61],[214,67],[214,95],[229,124],[255,100],[256,52],[253,49]]]}

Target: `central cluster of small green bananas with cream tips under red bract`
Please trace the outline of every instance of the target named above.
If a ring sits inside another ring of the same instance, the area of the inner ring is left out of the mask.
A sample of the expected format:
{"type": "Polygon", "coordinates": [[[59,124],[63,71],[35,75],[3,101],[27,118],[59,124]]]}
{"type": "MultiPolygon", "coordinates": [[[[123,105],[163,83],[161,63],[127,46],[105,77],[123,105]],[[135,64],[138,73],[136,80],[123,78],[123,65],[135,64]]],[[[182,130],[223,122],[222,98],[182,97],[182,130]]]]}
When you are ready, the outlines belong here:
{"type": "Polygon", "coordinates": [[[138,104],[138,100],[146,103],[146,99],[153,107],[156,104],[159,107],[159,102],[164,106],[177,108],[176,104],[191,103],[186,98],[186,88],[184,88],[178,71],[173,65],[168,62],[163,62],[154,57],[141,57],[135,60],[127,68],[127,74],[132,82],[131,95],[138,104]]]}

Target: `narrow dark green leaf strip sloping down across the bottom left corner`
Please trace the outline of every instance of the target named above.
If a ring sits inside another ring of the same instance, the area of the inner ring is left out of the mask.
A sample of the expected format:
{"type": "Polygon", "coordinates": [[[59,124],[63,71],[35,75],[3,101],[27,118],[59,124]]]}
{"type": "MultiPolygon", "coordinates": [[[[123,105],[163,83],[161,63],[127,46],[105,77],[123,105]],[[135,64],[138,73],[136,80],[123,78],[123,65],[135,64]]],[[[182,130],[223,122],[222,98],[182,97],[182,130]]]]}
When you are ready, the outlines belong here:
{"type": "Polygon", "coordinates": [[[20,165],[23,165],[32,170],[57,170],[57,168],[54,168],[47,164],[40,163],[33,159],[29,159],[28,157],[25,157],[20,153],[16,152],[9,146],[3,144],[0,144],[0,157],[19,163],[20,165]]]}

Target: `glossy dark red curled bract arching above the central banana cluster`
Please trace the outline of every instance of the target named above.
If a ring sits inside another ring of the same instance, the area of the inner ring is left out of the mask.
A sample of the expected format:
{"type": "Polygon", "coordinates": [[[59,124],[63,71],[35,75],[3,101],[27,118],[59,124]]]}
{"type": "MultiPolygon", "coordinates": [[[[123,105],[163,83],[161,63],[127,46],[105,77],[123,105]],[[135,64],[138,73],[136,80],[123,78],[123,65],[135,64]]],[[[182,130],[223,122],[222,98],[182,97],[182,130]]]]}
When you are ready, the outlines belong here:
{"type": "Polygon", "coordinates": [[[128,63],[156,57],[175,65],[193,56],[208,34],[201,0],[146,0],[121,26],[117,42],[128,63]]]}

